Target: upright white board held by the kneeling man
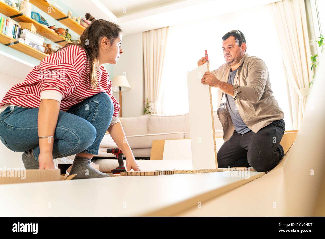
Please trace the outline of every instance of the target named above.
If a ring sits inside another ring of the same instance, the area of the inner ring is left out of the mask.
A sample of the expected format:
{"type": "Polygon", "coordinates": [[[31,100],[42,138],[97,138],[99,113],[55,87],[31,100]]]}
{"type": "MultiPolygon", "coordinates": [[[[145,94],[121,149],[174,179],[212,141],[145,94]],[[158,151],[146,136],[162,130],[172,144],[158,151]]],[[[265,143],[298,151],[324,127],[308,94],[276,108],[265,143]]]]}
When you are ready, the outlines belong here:
{"type": "Polygon", "coordinates": [[[211,86],[201,79],[209,63],[188,72],[188,104],[193,169],[217,169],[211,86]]]}

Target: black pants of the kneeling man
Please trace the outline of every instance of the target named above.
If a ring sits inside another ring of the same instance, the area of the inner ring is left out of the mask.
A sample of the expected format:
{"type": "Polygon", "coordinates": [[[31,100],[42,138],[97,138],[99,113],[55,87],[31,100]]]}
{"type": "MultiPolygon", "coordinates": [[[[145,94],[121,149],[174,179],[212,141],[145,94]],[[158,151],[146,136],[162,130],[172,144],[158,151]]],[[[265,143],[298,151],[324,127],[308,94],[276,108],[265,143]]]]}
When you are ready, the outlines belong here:
{"type": "Polygon", "coordinates": [[[219,149],[218,168],[253,167],[266,172],[279,163],[278,146],[284,134],[284,120],[276,120],[257,133],[236,131],[219,149]]]}

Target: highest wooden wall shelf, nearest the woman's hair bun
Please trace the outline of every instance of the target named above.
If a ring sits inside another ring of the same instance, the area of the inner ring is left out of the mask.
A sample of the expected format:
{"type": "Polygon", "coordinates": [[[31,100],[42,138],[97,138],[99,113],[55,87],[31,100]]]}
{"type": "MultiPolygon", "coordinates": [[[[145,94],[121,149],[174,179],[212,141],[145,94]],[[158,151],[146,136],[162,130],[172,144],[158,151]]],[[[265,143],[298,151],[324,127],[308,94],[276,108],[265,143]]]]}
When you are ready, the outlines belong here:
{"type": "MultiPolygon", "coordinates": [[[[48,12],[49,4],[45,0],[30,0],[31,4],[37,6],[39,9],[43,10],[44,12],[48,12]]],[[[53,6],[54,11],[51,9],[51,13],[47,13],[48,15],[52,16],[53,18],[57,19],[62,24],[66,25],[68,28],[70,28],[72,31],[76,32],[77,34],[81,35],[85,28],[72,20],[71,18],[68,18],[68,15],[61,12],[58,8],[53,6]],[[65,19],[62,19],[65,18],[65,19]],[[62,20],[59,20],[62,19],[62,20]]]]}

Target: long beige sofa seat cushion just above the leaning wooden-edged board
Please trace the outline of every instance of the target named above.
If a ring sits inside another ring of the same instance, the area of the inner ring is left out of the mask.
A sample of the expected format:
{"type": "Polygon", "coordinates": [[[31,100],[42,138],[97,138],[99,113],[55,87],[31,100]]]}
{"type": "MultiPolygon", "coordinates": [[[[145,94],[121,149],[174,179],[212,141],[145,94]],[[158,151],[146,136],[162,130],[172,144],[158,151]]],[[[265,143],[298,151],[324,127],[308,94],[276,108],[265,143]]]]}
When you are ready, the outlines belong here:
{"type": "Polygon", "coordinates": [[[153,140],[184,139],[184,136],[185,133],[183,132],[174,132],[174,133],[156,133],[156,134],[127,136],[126,139],[131,149],[134,149],[134,148],[151,148],[153,140]]]}

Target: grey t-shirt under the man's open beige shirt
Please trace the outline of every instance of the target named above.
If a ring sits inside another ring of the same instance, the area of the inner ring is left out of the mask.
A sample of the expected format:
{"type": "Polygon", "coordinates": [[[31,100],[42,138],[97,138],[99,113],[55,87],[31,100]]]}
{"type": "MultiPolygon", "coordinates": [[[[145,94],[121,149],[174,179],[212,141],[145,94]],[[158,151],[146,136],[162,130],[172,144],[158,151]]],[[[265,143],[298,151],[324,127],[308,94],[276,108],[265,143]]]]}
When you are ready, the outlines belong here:
{"type": "MultiPolygon", "coordinates": [[[[230,74],[229,74],[229,78],[228,78],[229,84],[234,84],[234,79],[235,79],[237,70],[238,70],[238,68],[235,69],[234,71],[231,71],[231,68],[230,68],[230,74]]],[[[248,131],[250,131],[250,128],[248,128],[247,125],[245,124],[245,122],[241,119],[241,116],[237,110],[234,98],[231,95],[228,95],[228,94],[225,94],[225,95],[226,95],[227,106],[229,108],[229,113],[231,116],[232,123],[235,126],[235,130],[239,134],[247,133],[248,131]]]]}

